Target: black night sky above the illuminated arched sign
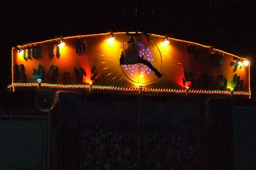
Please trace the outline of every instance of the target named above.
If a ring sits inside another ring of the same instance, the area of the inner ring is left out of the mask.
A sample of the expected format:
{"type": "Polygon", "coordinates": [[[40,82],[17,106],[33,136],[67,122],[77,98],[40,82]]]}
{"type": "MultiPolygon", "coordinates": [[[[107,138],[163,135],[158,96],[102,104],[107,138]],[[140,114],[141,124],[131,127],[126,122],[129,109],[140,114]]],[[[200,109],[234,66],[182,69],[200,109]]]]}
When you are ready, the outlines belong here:
{"type": "MultiPolygon", "coordinates": [[[[255,1],[1,1],[1,94],[13,46],[59,36],[144,32],[256,59],[255,1]],[[136,13],[137,10],[137,13],[136,13]]],[[[251,62],[254,67],[254,61],[251,62]]],[[[252,75],[255,69],[252,69],[252,75]]],[[[256,78],[254,78],[255,80],[256,78]]]]}

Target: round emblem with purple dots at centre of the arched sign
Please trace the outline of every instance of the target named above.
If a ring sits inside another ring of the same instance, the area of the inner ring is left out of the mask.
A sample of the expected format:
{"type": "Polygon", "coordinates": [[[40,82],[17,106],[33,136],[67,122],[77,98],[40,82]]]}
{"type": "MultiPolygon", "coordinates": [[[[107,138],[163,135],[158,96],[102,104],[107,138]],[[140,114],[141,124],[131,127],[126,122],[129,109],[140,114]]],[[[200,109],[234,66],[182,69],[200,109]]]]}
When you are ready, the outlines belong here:
{"type": "Polygon", "coordinates": [[[162,56],[154,41],[146,36],[131,37],[123,44],[120,66],[130,81],[147,84],[162,77],[162,56]]]}

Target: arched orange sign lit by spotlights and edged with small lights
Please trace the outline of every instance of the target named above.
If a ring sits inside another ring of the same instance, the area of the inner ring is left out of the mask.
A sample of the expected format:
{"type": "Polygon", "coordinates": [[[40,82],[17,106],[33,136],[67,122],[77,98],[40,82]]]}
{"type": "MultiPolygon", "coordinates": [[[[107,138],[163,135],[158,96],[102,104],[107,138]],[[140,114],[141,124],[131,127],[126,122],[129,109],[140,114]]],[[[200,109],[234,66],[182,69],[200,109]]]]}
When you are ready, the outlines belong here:
{"type": "Polygon", "coordinates": [[[250,63],[194,42],[144,33],[49,39],[12,49],[15,90],[251,97],[250,63]],[[65,45],[62,46],[65,42],[65,45]]]}

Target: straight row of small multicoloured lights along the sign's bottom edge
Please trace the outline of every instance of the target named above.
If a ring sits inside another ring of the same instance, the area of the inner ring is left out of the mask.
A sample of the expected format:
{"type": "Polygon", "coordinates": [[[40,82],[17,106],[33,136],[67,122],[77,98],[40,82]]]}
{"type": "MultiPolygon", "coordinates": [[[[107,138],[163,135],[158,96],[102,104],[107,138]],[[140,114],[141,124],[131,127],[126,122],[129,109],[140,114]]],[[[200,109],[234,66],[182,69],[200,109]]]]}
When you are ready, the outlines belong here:
{"type": "MultiPolygon", "coordinates": [[[[222,95],[230,95],[232,92],[234,95],[250,95],[249,92],[236,91],[233,92],[233,89],[230,91],[222,91],[222,90],[195,90],[195,89],[149,89],[142,88],[142,86],[138,88],[133,87],[114,87],[114,86],[95,86],[93,84],[48,84],[41,83],[41,87],[46,88],[57,88],[57,89],[96,89],[96,90],[115,90],[120,92],[157,92],[157,93],[190,93],[190,94],[222,94],[222,95]]],[[[10,87],[38,87],[38,83],[13,83],[10,87]]]]}

